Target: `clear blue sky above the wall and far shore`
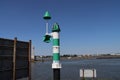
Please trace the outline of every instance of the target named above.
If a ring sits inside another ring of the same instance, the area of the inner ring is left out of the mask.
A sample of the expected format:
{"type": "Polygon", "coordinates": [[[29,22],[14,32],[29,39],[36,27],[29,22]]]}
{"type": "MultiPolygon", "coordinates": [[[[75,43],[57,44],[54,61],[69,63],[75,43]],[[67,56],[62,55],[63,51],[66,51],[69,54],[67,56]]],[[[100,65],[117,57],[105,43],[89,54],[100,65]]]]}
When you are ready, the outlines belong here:
{"type": "Polygon", "coordinates": [[[120,0],[0,0],[0,37],[32,40],[35,55],[52,55],[43,42],[44,13],[49,11],[49,33],[60,32],[60,54],[120,53],[120,0]]]}

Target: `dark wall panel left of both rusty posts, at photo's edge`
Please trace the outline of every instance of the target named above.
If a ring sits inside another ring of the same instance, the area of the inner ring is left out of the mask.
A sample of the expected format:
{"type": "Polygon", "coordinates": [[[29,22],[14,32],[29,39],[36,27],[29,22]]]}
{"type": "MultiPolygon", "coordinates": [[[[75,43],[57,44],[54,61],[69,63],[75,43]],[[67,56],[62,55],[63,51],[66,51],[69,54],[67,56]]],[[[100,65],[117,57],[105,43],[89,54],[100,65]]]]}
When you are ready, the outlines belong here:
{"type": "Polygon", "coordinates": [[[0,38],[0,79],[12,79],[13,40],[0,38]],[[7,76],[7,77],[6,77],[7,76]]]}

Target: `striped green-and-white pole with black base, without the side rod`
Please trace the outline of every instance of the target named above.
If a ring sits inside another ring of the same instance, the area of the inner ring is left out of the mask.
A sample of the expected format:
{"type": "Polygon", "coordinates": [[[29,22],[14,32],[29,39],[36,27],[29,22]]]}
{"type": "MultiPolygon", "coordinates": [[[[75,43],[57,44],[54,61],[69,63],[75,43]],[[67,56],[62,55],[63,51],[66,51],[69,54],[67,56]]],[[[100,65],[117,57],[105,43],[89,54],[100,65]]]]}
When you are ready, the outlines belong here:
{"type": "Polygon", "coordinates": [[[53,25],[52,37],[53,37],[53,80],[60,80],[60,39],[59,39],[60,28],[57,23],[53,25]]]}

